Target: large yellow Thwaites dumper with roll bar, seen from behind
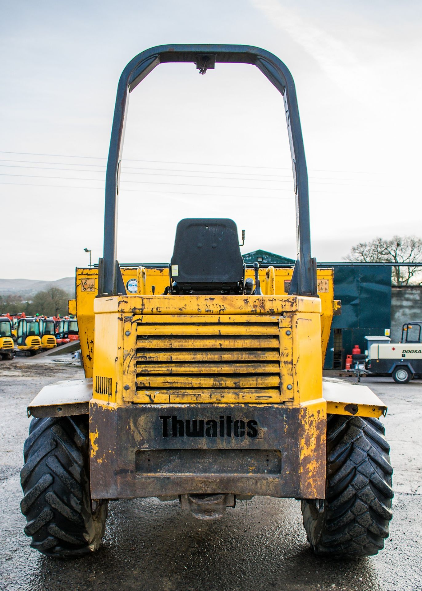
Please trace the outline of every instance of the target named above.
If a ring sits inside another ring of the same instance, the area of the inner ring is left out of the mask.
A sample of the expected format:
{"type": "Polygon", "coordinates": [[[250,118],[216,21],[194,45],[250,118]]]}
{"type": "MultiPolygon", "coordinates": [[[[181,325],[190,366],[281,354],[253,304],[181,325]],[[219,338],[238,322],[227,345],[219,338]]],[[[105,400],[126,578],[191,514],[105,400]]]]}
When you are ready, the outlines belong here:
{"type": "MultiPolygon", "coordinates": [[[[72,308],[74,304],[72,304],[72,308]]],[[[72,310],[73,311],[73,310],[72,310]]],[[[391,519],[387,410],[365,386],[322,381],[332,269],[310,253],[307,171],[296,91],[277,57],[249,46],[143,51],[117,89],[106,173],[104,255],[76,273],[85,379],[47,386],[21,472],[31,545],[96,550],[110,499],[179,499],[195,517],[254,495],[302,501],[317,554],[368,556],[391,519]],[[293,269],[246,268],[235,223],[185,219],[165,267],[117,262],[117,193],[129,93],[161,63],[252,64],[284,100],[296,197],[293,269]]]]}

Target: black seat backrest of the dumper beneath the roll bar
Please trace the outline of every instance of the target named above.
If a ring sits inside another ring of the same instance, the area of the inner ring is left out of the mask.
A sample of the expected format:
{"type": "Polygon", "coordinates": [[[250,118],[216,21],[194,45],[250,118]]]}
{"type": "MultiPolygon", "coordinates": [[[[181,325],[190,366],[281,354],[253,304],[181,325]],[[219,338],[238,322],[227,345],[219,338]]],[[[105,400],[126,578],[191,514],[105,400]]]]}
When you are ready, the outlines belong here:
{"type": "Polygon", "coordinates": [[[235,290],[243,281],[244,264],[233,220],[181,220],[176,228],[170,275],[182,290],[235,290]]]}

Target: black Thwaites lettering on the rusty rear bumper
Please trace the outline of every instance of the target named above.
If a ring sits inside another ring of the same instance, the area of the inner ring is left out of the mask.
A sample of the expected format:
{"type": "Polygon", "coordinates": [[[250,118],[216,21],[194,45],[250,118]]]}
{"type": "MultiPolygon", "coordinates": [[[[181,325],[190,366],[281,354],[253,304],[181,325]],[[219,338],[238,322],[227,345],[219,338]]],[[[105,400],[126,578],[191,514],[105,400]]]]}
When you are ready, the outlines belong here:
{"type": "Polygon", "coordinates": [[[257,437],[258,421],[243,421],[230,415],[210,418],[181,419],[177,415],[161,415],[163,437],[257,437]]]}

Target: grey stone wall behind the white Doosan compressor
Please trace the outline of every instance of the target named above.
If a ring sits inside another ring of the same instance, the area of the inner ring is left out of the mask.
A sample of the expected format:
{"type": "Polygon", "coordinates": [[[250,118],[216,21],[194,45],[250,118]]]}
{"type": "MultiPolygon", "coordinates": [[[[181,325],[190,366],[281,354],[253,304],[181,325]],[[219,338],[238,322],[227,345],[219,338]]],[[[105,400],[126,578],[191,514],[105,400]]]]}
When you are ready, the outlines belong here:
{"type": "Polygon", "coordinates": [[[422,321],[422,285],[391,288],[391,340],[401,340],[401,327],[406,322],[422,321]]]}

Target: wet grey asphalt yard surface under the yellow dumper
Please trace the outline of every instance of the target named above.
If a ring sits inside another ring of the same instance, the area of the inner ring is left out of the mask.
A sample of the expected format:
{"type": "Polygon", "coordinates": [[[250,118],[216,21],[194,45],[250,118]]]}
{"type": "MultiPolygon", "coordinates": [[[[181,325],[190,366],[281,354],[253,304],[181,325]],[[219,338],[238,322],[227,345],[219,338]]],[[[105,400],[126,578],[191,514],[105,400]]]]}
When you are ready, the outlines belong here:
{"type": "Polygon", "coordinates": [[[178,503],[109,504],[97,553],[57,560],[30,548],[19,509],[28,402],[46,384],[83,377],[76,365],[0,362],[0,589],[7,591],[420,591],[422,589],[422,381],[367,378],[389,407],[394,518],[378,556],[313,556],[294,500],[254,498],[220,521],[198,521],[178,503]]]}

